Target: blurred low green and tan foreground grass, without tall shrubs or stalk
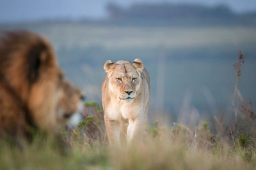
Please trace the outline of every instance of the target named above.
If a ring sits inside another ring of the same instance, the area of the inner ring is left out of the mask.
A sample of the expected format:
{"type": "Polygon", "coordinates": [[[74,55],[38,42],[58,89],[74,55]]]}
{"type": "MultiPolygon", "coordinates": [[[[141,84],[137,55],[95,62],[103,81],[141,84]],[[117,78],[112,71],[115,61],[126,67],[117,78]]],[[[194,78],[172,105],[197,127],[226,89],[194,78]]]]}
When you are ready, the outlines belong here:
{"type": "Polygon", "coordinates": [[[156,123],[148,127],[143,143],[119,149],[109,148],[101,139],[88,141],[82,133],[74,133],[72,130],[70,135],[63,134],[63,138],[69,138],[67,148],[58,144],[56,138],[44,135],[36,136],[33,143],[22,149],[1,141],[0,169],[256,168],[255,145],[243,147],[239,139],[234,145],[223,142],[211,134],[207,124],[202,125],[195,138],[183,125],[158,127],[156,123]]]}

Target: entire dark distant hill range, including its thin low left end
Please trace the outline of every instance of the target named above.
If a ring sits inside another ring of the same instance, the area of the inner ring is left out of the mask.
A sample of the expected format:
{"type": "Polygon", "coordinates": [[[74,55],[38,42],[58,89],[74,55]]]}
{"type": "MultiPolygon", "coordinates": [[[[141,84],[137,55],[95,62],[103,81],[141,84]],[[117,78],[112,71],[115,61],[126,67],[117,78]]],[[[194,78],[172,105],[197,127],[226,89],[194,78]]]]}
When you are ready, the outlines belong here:
{"type": "MultiPolygon", "coordinates": [[[[20,22],[14,25],[28,24],[90,24],[90,25],[132,25],[132,26],[256,26],[256,11],[236,13],[228,6],[205,6],[202,4],[138,3],[128,7],[115,3],[106,5],[107,18],[93,19],[58,18],[20,22]]],[[[4,23],[3,25],[10,25],[4,23]]],[[[12,25],[12,24],[11,24],[12,25]]]]}

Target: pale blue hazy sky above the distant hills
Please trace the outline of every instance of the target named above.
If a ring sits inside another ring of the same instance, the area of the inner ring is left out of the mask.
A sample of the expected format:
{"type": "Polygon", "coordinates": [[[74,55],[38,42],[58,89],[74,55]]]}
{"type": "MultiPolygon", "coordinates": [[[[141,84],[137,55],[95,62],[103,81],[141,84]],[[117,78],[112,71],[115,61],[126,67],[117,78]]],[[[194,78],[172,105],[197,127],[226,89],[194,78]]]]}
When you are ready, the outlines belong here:
{"type": "Polygon", "coordinates": [[[237,12],[256,10],[256,0],[0,0],[0,24],[44,18],[102,18],[106,17],[105,6],[108,2],[122,6],[140,2],[227,4],[237,12]]]}

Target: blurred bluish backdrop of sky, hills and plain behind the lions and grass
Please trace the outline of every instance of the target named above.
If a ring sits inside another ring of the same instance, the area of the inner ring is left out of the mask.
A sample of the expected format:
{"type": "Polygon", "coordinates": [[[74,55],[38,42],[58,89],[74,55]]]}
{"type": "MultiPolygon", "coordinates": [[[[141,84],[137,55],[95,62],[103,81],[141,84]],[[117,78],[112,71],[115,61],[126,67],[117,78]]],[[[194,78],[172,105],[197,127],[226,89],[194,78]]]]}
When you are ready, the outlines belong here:
{"type": "Polygon", "coordinates": [[[255,0],[1,0],[0,31],[15,29],[49,38],[88,101],[100,103],[106,60],[140,58],[150,74],[152,119],[229,114],[241,50],[239,89],[256,103],[255,0]]]}

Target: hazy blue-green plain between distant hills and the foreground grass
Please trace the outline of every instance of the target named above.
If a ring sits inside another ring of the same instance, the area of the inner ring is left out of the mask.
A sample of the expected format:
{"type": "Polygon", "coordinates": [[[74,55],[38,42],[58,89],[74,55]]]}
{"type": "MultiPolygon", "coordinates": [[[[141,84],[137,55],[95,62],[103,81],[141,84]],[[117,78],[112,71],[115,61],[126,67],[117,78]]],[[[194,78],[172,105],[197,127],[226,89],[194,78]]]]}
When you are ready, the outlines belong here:
{"type": "Polygon", "coordinates": [[[153,112],[163,108],[171,115],[177,114],[189,95],[191,105],[200,112],[211,113],[211,107],[228,110],[236,81],[232,65],[241,50],[247,61],[241,91],[256,101],[255,27],[122,27],[81,23],[0,27],[0,31],[12,29],[28,29],[49,38],[65,74],[83,89],[88,100],[100,103],[106,60],[140,58],[150,74],[153,112]],[[163,89],[162,96],[159,89],[163,89]],[[207,94],[214,106],[207,101],[207,94]]]}

